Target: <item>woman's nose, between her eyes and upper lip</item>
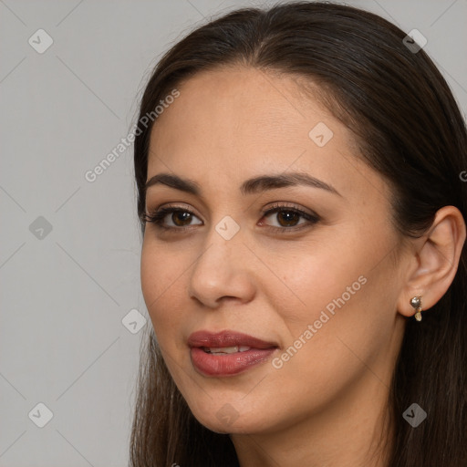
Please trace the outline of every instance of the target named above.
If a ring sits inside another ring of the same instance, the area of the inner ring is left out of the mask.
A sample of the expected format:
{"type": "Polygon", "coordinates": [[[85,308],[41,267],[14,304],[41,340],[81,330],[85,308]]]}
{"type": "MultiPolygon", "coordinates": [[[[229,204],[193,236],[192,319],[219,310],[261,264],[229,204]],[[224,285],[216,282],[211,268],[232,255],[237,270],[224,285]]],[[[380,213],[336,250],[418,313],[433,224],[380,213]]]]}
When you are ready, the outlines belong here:
{"type": "Polygon", "coordinates": [[[225,240],[213,226],[206,247],[192,267],[189,296],[203,306],[218,308],[225,300],[248,303],[254,298],[254,255],[242,231],[225,240]]]}

